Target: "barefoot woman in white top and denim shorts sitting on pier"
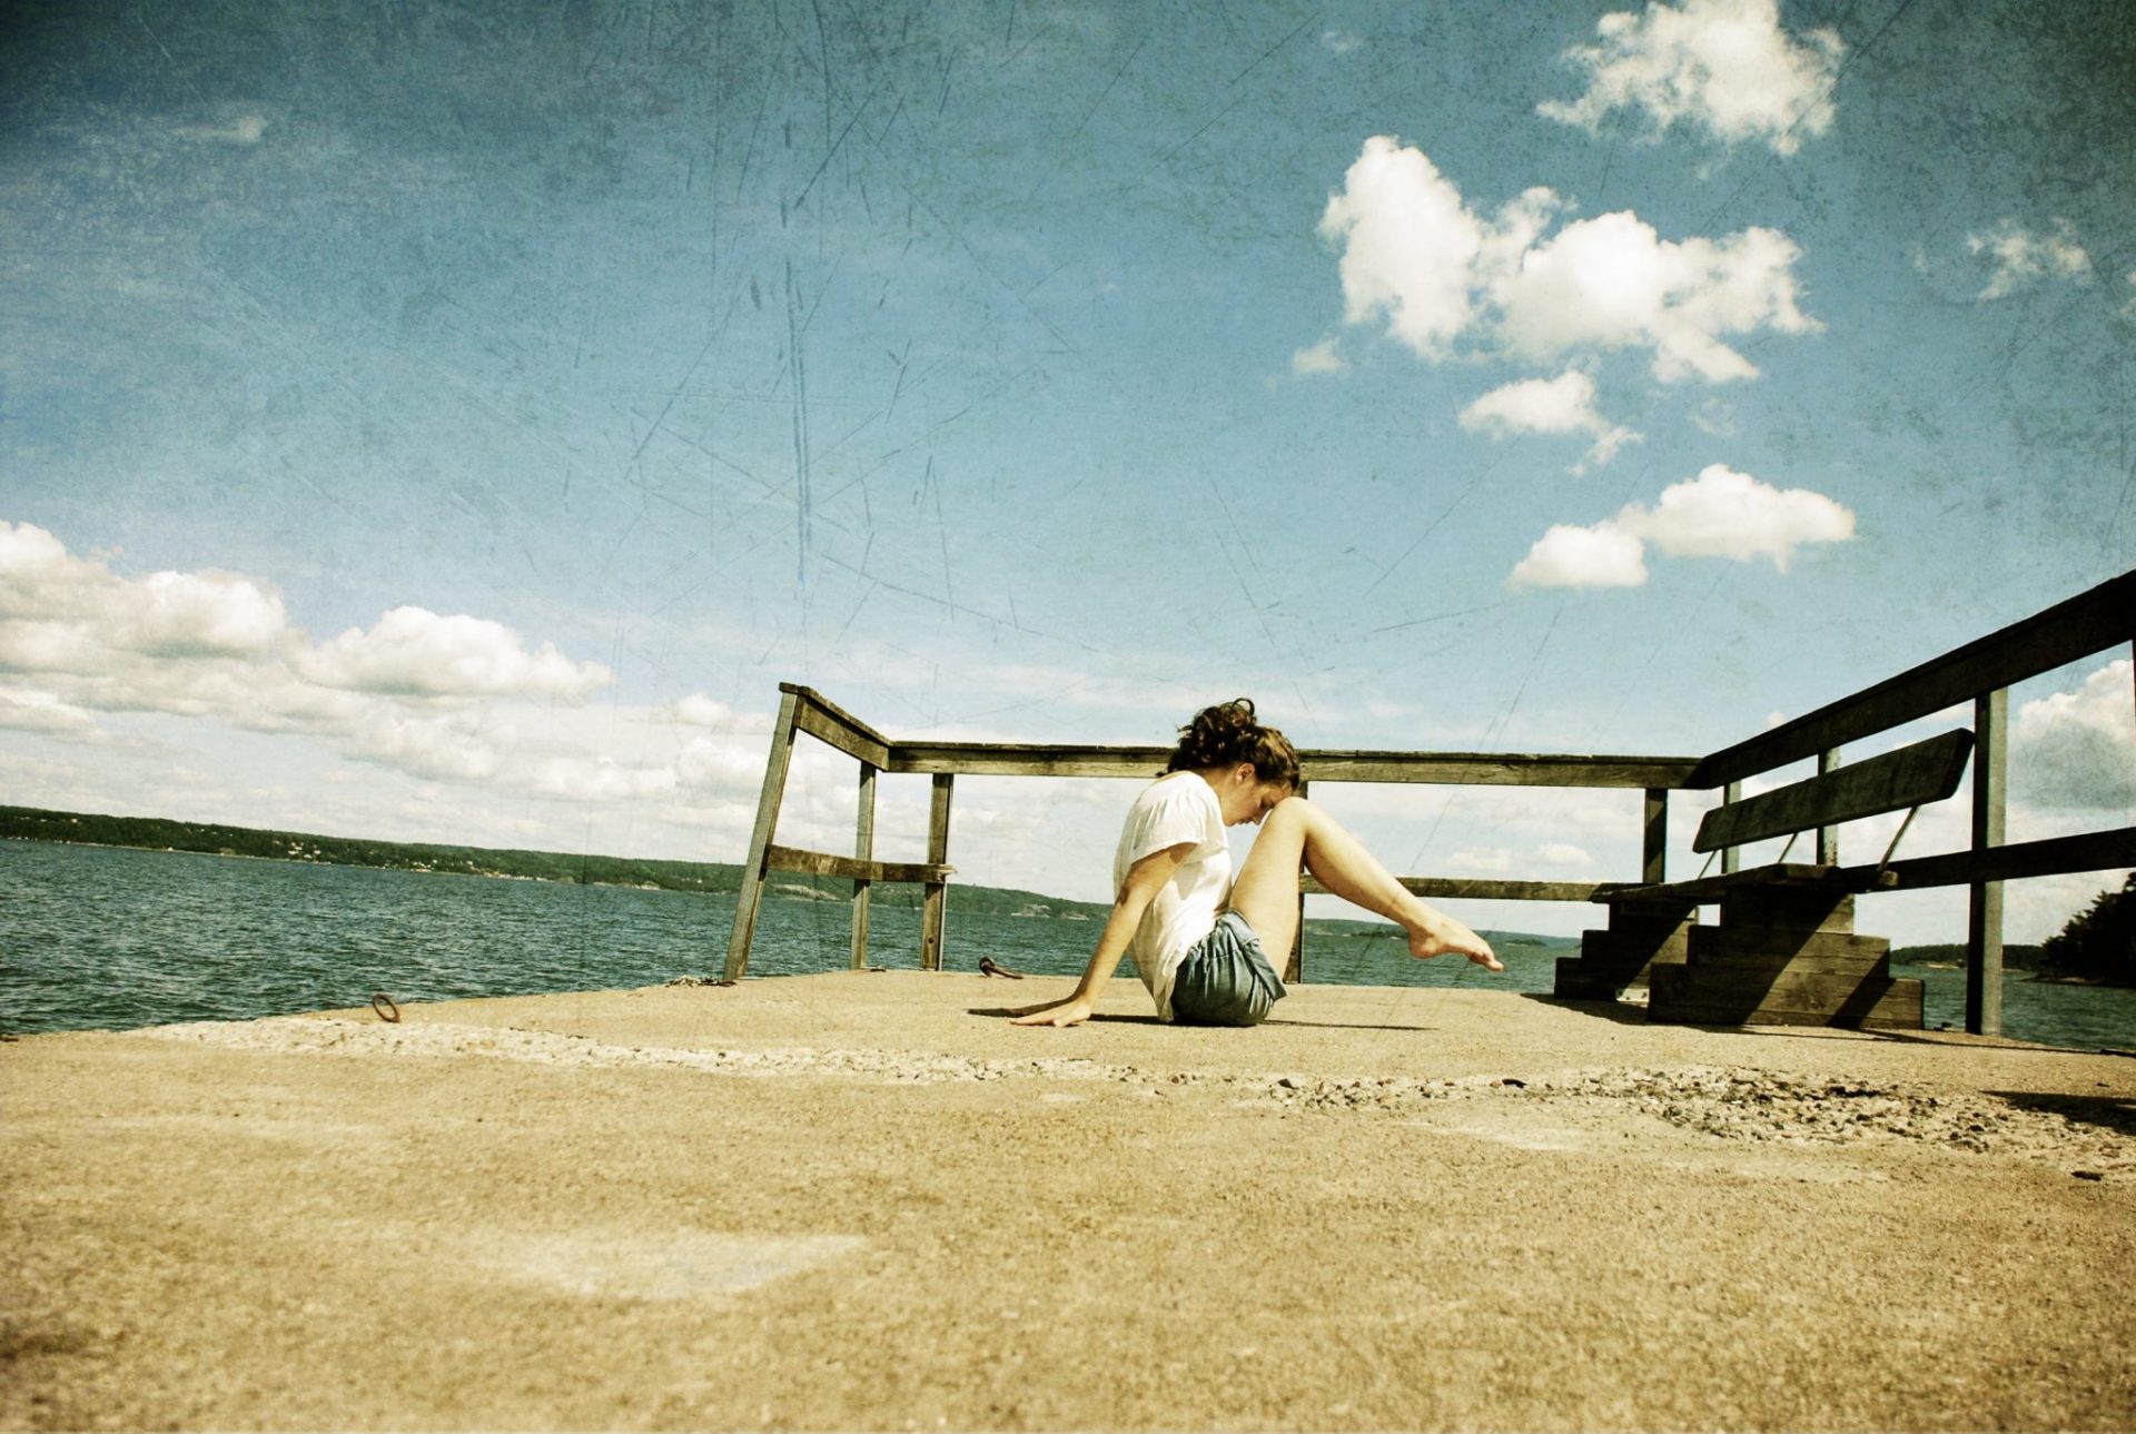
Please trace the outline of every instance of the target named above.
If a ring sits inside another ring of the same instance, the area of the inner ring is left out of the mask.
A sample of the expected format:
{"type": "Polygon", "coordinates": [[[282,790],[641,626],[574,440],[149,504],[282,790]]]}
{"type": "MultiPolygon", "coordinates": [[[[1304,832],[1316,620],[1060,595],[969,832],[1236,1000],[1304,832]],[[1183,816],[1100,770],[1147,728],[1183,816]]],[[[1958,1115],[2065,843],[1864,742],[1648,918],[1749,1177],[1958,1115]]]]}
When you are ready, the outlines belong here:
{"type": "Polygon", "coordinates": [[[1504,970],[1482,936],[1425,906],[1333,816],[1297,795],[1299,754],[1237,699],[1179,729],[1164,776],[1128,810],[1113,855],[1113,915],[1083,979],[1062,1000],[1012,1011],[1017,1026],[1074,1026],[1134,955],[1158,1015],[1190,1026],[1256,1026],[1284,998],[1299,930],[1299,868],[1322,887],[1410,934],[1410,955],[1457,951],[1504,970]],[[1230,874],[1224,827],[1254,823],[1254,848],[1230,874]]]}

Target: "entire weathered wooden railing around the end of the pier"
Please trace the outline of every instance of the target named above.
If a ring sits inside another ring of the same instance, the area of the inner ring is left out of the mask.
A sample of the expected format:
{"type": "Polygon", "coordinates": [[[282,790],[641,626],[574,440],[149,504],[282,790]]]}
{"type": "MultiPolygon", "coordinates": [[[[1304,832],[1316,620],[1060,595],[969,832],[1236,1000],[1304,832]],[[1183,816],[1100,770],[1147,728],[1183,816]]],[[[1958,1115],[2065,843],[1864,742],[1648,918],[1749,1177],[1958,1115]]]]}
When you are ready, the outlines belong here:
{"type": "MultiPolygon", "coordinates": [[[[1666,880],[1668,793],[1722,789],[1724,801],[1741,793],[1745,778],[1816,757],[1820,771],[1841,763],[1841,748],[1878,733],[1972,703],[1974,778],[1972,846],[1963,853],[1910,857],[1880,863],[1878,889],[1969,887],[1965,1026],[1976,1032],[2001,1028],[2001,883],[2057,872],[2091,872],[2136,866],[2136,827],[2083,836],[2004,844],[2008,705],[2010,686],[2066,667],[2106,648],[2136,639],[2136,573],[2123,573],[2068,603],[2057,603],[2023,622],[1946,652],[1871,688],[1841,697],[1773,731],[1722,748],[1705,759],[1690,757],[1579,757],[1508,752],[1380,752],[1301,750],[1305,784],[1395,782],[1431,786],[1634,786],[1645,793],[1640,819],[1640,870],[1621,883],[1568,880],[1474,880],[1452,876],[1403,876],[1418,895],[1438,900],[1523,900],[1591,902],[1598,893],[1666,880]]],[[[998,742],[899,742],[859,720],[805,686],[780,684],[780,718],[765,763],[765,786],[750,836],[748,866],[735,904],[735,928],[726,947],[726,979],[748,970],[756,913],[771,872],[839,876],[854,883],[852,964],[867,964],[867,908],[876,883],[918,883],[925,887],[921,917],[921,966],[940,970],[948,863],[948,819],[959,776],[1077,776],[1151,778],[1162,771],[1162,746],[1038,746],[998,742]],[[797,735],[852,757],[861,765],[854,851],[818,853],[773,844],[786,771],[797,735]],[[878,774],[923,774],[933,778],[927,821],[927,859],[891,863],[874,859],[878,774]]],[[[1839,863],[1835,829],[1818,831],[1818,861],[1839,863]]],[[[1722,870],[1734,870],[1734,848],[1722,855],[1722,870]]],[[[1852,870],[1852,868],[1848,868],[1852,870]]],[[[1865,872],[1869,868],[1863,868],[1865,872]]],[[[1301,902],[1320,887],[1301,878],[1301,902]]],[[[1303,923],[1299,928],[1303,932],[1303,923]]],[[[1299,953],[1292,953],[1292,972],[1299,953]]]]}

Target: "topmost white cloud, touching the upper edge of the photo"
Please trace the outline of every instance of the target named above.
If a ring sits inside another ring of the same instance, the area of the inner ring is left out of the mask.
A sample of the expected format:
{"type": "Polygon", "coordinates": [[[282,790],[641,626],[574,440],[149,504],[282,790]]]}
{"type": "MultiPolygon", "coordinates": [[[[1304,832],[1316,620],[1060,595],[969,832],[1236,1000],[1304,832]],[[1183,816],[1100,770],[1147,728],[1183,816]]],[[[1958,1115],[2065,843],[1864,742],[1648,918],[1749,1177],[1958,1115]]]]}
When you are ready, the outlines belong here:
{"type": "Polygon", "coordinates": [[[1587,73],[1587,92],[1536,109],[1587,130],[1611,111],[1645,111],[1655,137],[1687,124],[1724,143],[1764,141],[1794,154],[1799,135],[1833,124],[1843,53],[1833,30],[1801,41],[1781,30],[1779,0],[1649,4],[1643,15],[1604,15],[1596,43],[1566,53],[1587,73]]]}

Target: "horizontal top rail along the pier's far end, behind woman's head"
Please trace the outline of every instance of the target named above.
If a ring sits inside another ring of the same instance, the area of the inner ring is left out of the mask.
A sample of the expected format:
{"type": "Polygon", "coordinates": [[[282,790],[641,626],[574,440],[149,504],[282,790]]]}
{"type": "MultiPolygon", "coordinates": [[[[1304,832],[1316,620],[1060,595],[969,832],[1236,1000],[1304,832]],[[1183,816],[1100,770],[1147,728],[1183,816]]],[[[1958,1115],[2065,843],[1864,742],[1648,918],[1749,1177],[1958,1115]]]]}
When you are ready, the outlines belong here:
{"type": "MultiPolygon", "coordinates": [[[[1040,746],[1015,742],[895,742],[889,771],[955,776],[1156,778],[1171,748],[1040,746]]],[[[1690,757],[1540,757],[1519,752],[1303,750],[1309,782],[1429,782],[1446,786],[1683,786],[1690,757]]]]}

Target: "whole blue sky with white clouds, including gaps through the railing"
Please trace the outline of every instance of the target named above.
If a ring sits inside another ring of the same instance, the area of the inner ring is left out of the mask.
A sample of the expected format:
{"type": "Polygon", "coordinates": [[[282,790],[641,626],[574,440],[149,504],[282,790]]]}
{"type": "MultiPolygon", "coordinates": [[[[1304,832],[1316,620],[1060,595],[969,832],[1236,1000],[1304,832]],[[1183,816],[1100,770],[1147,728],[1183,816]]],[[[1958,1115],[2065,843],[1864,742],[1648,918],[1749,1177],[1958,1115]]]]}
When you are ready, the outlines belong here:
{"type": "MultiPolygon", "coordinates": [[[[780,680],[897,735],[1247,692],[1713,750],[2132,566],[2127,21],[17,6],[0,780],[737,859],[780,680]]],[[[2130,688],[2016,695],[2014,838],[2130,821],[2130,688]]],[[[810,754],[782,840],[850,782],[810,754]]],[[[1324,797],[1410,872],[1636,863],[1632,795],[1324,797]]],[[[1126,799],[968,782],[955,859],[1102,898],[1126,799]]]]}

